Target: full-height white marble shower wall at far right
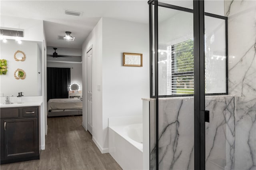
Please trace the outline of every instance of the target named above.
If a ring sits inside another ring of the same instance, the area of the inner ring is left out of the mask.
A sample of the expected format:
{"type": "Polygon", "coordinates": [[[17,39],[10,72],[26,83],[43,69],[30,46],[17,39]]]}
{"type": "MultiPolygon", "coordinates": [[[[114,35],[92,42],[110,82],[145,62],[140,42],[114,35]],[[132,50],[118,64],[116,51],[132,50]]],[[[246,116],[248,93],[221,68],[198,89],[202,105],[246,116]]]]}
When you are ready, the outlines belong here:
{"type": "Polygon", "coordinates": [[[229,94],[236,95],[235,170],[256,170],[256,1],[225,1],[229,94]]]}

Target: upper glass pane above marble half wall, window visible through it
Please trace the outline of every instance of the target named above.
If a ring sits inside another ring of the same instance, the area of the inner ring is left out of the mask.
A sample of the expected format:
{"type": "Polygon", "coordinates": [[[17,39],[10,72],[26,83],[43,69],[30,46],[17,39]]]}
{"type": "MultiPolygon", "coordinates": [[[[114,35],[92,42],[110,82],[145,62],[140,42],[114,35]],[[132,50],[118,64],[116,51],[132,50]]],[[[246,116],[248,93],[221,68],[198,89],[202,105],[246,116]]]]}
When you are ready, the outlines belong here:
{"type": "Polygon", "coordinates": [[[159,95],[194,94],[193,14],[158,8],[159,95]]]}

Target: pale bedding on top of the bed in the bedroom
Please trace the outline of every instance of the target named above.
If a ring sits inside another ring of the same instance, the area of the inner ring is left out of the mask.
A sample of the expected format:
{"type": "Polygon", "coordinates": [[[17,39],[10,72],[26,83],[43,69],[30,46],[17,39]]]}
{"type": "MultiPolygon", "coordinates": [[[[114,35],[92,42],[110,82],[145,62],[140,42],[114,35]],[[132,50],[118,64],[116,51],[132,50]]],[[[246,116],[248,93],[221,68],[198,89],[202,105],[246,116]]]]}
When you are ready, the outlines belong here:
{"type": "Polygon", "coordinates": [[[83,109],[80,99],[50,99],[47,102],[48,110],[83,109]]]}

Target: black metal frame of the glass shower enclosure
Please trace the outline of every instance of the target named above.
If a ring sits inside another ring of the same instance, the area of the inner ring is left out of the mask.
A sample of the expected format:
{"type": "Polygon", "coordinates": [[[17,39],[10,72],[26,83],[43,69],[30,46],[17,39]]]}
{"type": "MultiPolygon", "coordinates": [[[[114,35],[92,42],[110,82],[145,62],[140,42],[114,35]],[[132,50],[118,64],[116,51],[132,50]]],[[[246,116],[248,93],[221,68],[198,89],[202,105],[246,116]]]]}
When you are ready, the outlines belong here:
{"type": "Polygon", "coordinates": [[[193,0],[193,9],[174,6],[158,0],[149,0],[149,36],[150,36],[150,97],[156,99],[156,170],[158,170],[158,99],[160,97],[176,97],[191,95],[165,95],[158,94],[158,8],[161,6],[193,13],[194,22],[194,169],[205,170],[205,95],[228,94],[228,18],[204,12],[204,0],[193,0]],[[154,15],[152,14],[154,10],[154,15]],[[205,94],[204,91],[204,16],[225,20],[226,26],[226,93],[205,94]],[[153,30],[154,19],[154,33],[153,30]],[[154,40],[154,46],[153,46],[154,40]],[[153,50],[154,49],[154,50],[153,50]],[[156,51],[156,52],[154,52],[156,51]],[[154,56],[154,58],[153,58],[154,56]],[[153,70],[154,69],[154,70],[153,70]],[[154,77],[153,77],[154,71],[154,77]],[[154,78],[154,82],[153,82],[154,78]],[[154,83],[154,88],[152,87],[154,83]]]}

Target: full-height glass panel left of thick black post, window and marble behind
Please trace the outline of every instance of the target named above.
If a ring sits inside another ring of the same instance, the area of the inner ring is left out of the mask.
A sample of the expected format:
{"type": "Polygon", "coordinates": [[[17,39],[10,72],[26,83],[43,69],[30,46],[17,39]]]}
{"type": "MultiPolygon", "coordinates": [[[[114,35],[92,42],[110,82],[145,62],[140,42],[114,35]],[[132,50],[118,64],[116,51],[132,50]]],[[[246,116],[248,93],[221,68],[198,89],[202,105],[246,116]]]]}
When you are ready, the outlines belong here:
{"type": "MultiPolygon", "coordinates": [[[[194,91],[193,35],[193,13],[158,7],[159,95],[194,91]]],[[[158,104],[159,170],[193,170],[194,98],[159,98],[158,104]]]]}

